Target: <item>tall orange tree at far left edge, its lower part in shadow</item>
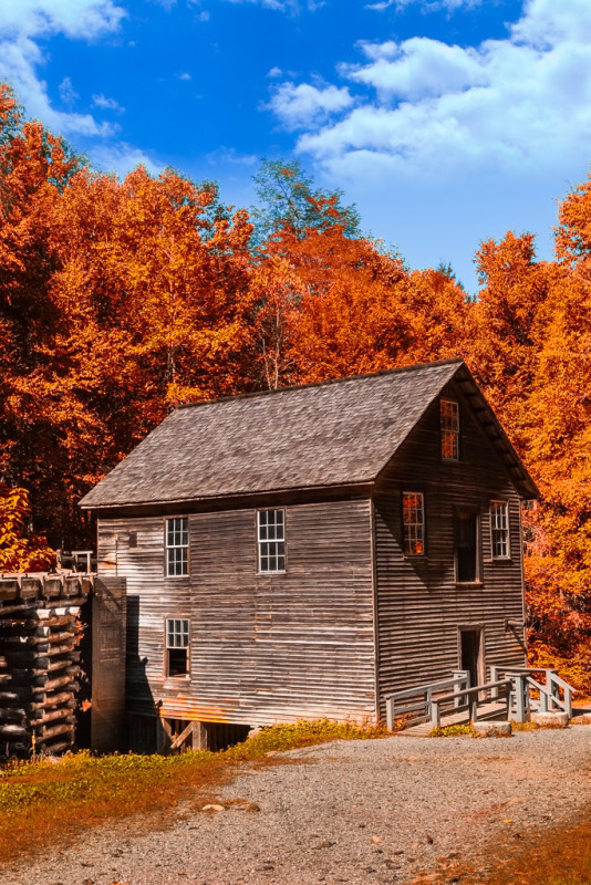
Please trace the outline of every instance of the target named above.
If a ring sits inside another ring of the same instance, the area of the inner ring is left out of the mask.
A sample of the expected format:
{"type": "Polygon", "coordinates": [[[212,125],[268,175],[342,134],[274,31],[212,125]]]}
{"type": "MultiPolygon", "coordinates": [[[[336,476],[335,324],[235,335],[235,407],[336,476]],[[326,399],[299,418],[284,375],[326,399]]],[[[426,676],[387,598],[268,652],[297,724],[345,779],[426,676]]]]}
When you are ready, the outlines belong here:
{"type": "MultiPolygon", "coordinates": [[[[23,123],[10,91],[1,90],[0,104],[8,107],[8,123],[0,114],[0,477],[31,491],[37,521],[40,485],[54,488],[60,478],[44,454],[55,425],[38,420],[40,391],[28,379],[44,363],[40,347],[60,319],[49,295],[49,218],[80,160],[42,124],[23,123]]],[[[54,516],[60,521],[59,508],[54,516]]]]}

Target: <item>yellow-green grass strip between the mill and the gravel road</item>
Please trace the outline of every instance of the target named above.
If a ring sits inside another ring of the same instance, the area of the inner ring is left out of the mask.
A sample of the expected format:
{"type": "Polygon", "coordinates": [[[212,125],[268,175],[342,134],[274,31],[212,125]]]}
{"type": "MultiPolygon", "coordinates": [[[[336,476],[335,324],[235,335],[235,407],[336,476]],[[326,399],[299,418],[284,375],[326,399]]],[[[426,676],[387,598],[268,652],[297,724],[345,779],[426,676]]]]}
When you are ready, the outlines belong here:
{"type": "Polygon", "coordinates": [[[263,728],[243,743],[216,753],[96,758],[82,751],[59,761],[9,764],[0,771],[0,860],[63,842],[107,819],[169,814],[196,790],[204,792],[229,780],[240,762],[330,740],[386,735],[381,727],[301,721],[263,728]]]}

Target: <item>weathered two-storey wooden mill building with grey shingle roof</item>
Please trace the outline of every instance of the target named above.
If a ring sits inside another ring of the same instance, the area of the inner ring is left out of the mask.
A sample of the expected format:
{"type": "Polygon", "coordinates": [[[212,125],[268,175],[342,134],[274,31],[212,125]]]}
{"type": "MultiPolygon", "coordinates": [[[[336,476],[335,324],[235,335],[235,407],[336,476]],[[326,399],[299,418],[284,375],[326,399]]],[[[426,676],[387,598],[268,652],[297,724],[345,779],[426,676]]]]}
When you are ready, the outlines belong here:
{"type": "Polygon", "coordinates": [[[82,501],[126,581],[135,743],[523,666],[536,494],[462,361],[177,408],[82,501]]]}

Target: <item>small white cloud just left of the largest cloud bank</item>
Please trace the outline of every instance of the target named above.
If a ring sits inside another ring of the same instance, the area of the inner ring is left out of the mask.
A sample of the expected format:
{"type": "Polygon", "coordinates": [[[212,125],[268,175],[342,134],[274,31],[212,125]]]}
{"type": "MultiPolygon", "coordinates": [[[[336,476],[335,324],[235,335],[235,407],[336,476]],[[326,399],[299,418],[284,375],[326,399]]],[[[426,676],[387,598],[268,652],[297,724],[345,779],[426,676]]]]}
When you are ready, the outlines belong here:
{"type": "Polygon", "coordinates": [[[346,87],[318,88],[308,83],[282,83],[271,96],[269,107],[288,129],[323,122],[330,114],[344,111],[353,103],[346,87]]]}

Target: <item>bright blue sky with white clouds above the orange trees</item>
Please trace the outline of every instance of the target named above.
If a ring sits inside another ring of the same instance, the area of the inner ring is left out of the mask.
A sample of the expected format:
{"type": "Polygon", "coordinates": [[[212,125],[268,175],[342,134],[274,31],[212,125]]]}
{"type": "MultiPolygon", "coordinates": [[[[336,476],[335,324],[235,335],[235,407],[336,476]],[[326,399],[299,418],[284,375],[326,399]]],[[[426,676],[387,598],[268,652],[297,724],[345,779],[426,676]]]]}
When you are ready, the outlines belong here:
{"type": "Polygon", "coordinates": [[[0,0],[0,79],[120,175],[249,206],[260,157],[298,158],[470,292],[488,237],[551,257],[591,159],[591,0],[0,0]]]}

